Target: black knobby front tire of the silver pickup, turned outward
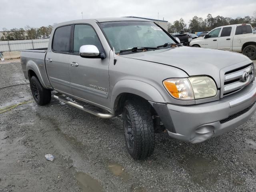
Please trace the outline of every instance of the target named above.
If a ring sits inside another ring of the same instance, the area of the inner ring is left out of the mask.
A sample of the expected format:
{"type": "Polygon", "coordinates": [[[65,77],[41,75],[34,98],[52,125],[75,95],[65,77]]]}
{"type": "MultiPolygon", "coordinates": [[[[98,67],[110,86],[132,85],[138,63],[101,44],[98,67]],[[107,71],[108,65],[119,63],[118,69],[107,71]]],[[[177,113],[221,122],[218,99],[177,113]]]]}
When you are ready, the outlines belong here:
{"type": "Polygon", "coordinates": [[[154,152],[154,124],[150,116],[150,106],[141,100],[127,100],[123,113],[124,138],[129,154],[135,160],[143,160],[154,152]],[[129,140],[128,127],[133,134],[133,144],[129,140]],[[127,136],[126,136],[127,134],[127,136]]]}

